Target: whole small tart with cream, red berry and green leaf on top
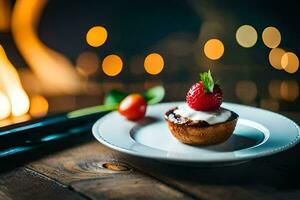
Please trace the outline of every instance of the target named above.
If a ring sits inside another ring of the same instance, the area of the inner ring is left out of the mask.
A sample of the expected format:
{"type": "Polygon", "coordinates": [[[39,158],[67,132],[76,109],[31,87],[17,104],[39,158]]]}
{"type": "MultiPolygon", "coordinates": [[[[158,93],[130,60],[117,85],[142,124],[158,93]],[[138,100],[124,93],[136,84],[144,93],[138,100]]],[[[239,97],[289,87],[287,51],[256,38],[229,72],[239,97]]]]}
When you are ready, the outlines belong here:
{"type": "Polygon", "coordinates": [[[165,120],[182,143],[219,144],[232,135],[238,114],[220,107],[222,91],[210,71],[200,74],[200,79],[187,93],[186,103],[166,112],[165,120]]]}

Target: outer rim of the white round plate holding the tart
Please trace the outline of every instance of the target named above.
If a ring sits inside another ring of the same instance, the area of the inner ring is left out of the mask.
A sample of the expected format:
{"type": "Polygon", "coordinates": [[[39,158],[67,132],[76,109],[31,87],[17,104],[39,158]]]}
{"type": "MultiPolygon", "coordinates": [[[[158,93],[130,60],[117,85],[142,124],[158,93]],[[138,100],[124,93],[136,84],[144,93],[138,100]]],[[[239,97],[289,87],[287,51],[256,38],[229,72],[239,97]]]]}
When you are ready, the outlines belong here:
{"type": "MultiPolygon", "coordinates": [[[[163,103],[151,105],[151,107],[160,106],[162,104],[180,104],[180,103],[183,103],[183,101],[163,102],[163,103]]],[[[271,113],[271,114],[275,114],[275,115],[277,115],[281,118],[284,118],[289,123],[291,123],[297,130],[297,136],[295,137],[295,139],[293,141],[285,144],[284,146],[277,147],[277,148],[274,148],[272,150],[261,151],[259,154],[256,154],[256,155],[252,154],[252,155],[248,155],[248,156],[245,156],[245,157],[234,157],[234,159],[233,158],[223,158],[223,159],[220,159],[220,160],[199,160],[199,159],[196,160],[196,159],[182,159],[182,158],[176,158],[176,157],[166,157],[166,156],[156,156],[156,155],[145,155],[145,154],[142,154],[142,153],[130,150],[130,149],[120,147],[116,144],[113,144],[113,143],[107,141],[99,133],[99,131],[98,131],[99,126],[104,120],[106,120],[106,118],[110,117],[110,115],[114,115],[117,111],[110,112],[110,113],[106,114],[105,116],[101,117],[100,119],[98,119],[92,127],[92,133],[93,133],[93,136],[100,143],[102,143],[103,145],[105,145],[105,146],[107,146],[107,147],[109,147],[113,150],[117,150],[117,151],[120,151],[122,153],[125,153],[125,154],[129,154],[129,155],[137,156],[137,157],[142,157],[142,158],[148,158],[148,159],[164,160],[164,161],[170,161],[170,162],[185,162],[185,163],[224,163],[224,162],[240,162],[240,161],[245,161],[245,160],[251,160],[251,159],[254,159],[254,158],[261,158],[261,157],[265,157],[265,156],[268,156],[268,155],[273,155],[275,153],[279,153],[279,152],[282,152],[284,150],[290,149],[290,148],[294,147],[300,141],[300,128],[299,128],[298,124],[296,122],[294,122],[293,120],[289,119],[288,117],[282,115],[282,114],[279,114],[279,113],[276,113],[276,112],[273,112],[273,111],[270,111],[270,110],[265,110],[265,109],[262,109],[262,108],[243,105],[243,104],[237,104],[237,103],[231,103],[231,102],[223,102],[223,104],[226,104],[226,105],[229,105],[229,106],[242,106],[242,107],[250,108],[250,109],[258,109],[258,110],[263,111],[263,112],[268,112],[268,113],[271,113]]],[[[246,119],[246,120],[248,120],[248,119],[246,119]]],[[[250,120],[250,121],[252,121],[252,120],[250,120]]],[[[256,123],[258,123],[258,122],[256,122],[256,123]]],[[[258,123],[258,124],[260,124],[260,123],[258,123]]],[[[142,146],[145,146],[145,145],[140,144],[138,142],[135,142],[135,143],[137,143],[139,145],[142,145],[142,146]]],[[[151,148],[151,147],[149,147],[149,148],[151,148]]],[[[155,148],[151,148],[151,149],[155,149],[155,148]]],[[[163,150],[160,150],[160,151],[163,151],[163,150]]]]}

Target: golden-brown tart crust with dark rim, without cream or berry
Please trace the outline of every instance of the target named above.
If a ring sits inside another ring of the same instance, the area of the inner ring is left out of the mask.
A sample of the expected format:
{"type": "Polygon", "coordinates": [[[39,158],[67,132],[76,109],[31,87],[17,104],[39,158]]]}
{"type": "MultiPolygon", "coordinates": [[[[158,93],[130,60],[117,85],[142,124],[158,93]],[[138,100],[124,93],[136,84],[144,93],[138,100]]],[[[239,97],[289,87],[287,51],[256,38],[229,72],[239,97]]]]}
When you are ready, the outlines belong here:
{"type": "Polygon", "coordinates": [[[192,145],[213,145],[226,141],[233,133],[238,114],[233,111],[225,122],[210,125],[206,121],[191,121],[174,114],[173,108],[165,114],[165,120],[175,138],[192,145]]]}

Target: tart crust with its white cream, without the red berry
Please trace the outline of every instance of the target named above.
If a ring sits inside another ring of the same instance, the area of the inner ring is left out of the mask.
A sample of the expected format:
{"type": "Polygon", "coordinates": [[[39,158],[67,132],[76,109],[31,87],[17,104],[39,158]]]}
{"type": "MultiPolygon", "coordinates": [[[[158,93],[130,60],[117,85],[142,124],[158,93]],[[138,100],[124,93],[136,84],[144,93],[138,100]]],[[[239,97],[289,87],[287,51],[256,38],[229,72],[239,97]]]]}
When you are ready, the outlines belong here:
{"type": "MultiPolygon", "coordinates": [[[[165,114],[171,133],[185,144],[211,145],[226,141],[234,131],[238,115],[225,108],[215,112],[185,112],[180,105],[165,114]]],[[[188,110],[191,108],[188,108],[188,110]]]]}

